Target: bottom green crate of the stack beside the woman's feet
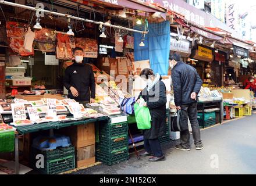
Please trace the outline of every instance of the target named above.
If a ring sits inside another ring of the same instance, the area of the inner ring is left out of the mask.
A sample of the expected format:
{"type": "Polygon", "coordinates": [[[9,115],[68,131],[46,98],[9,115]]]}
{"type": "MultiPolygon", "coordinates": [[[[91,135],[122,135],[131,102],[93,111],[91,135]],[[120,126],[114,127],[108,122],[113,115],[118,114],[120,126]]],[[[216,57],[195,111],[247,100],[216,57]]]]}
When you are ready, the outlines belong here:
{"type": "Polygon", "coordinates": [[[129,159],[129,149],[126,146],[109,153],[105,153],[102,149],[96,149],[95,157],[97,161],[110,166],[129,159]]]}

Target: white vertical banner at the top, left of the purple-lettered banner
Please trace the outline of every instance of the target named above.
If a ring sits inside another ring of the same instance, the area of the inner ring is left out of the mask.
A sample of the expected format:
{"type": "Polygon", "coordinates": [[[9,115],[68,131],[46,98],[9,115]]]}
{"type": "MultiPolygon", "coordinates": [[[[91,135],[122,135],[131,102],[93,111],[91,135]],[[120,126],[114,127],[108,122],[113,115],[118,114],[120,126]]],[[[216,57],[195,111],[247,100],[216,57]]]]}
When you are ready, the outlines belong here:
{"type": "Polygon", "coordinates": [[[225,23],[225,7],[226,2],[223,0],[211,0],[211,13],[222,23],[225,23]]]}

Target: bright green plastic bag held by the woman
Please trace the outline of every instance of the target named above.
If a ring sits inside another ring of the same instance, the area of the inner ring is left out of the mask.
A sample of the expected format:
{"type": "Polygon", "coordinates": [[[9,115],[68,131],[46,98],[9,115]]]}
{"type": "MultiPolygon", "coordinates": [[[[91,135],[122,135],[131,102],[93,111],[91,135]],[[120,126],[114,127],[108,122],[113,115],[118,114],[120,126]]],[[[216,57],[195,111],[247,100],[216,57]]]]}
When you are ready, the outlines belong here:
{"type": "Polygon", "coordinates": [[[134,113],[138,129],[145,130],[151,128],[150,109],[145,106],[134,104],[134,113]]]}

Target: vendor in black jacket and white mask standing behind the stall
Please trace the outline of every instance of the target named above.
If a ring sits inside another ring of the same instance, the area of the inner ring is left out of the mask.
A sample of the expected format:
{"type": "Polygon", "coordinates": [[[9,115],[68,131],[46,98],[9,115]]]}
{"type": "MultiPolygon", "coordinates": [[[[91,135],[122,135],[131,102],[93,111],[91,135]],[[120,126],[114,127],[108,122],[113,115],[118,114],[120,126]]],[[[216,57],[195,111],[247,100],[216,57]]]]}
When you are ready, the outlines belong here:
{"type": "Polygon", "coordinates": [[[73,55],[74,63],[66,68],[63,84],[69,90],[68,98],[85,106],[88,102],[94,102],[94,73],[92,67],[83,61],[84,51],[82,48],[74,48],[73,55]]]}

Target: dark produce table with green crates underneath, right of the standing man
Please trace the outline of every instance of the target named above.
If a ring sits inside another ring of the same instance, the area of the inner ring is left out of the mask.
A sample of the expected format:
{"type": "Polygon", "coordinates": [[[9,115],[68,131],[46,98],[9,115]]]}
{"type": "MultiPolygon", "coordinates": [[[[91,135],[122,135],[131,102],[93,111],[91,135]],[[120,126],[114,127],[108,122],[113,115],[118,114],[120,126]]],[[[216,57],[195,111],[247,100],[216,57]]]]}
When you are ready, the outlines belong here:
{"type": "Polygon", "coordinates": [[[223,105],[222,105],[222,99],[220,100],[214,100],[214,101],[198,101],[197,109],[202,111],[202,128],[205,128],[205,110],[206,109],[214,109],[218,108],[216,112],[219,113],[219,123],[222,123],[222,117],[223,117],[223,105]]]}

